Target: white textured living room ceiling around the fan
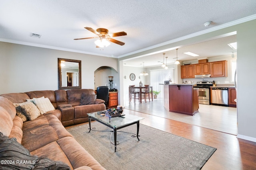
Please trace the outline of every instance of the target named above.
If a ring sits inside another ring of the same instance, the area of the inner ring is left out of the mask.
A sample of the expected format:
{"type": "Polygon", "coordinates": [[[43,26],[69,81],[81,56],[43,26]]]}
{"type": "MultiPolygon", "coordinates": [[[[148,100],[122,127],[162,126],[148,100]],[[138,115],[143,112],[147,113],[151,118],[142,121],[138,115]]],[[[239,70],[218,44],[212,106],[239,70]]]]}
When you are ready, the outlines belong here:
{"type": "Polygon", "coordinates": [[[0,41],[118,58],[255,14],[255,0],[1,0],[0,41]],[[206,21],[212,24],[205,27],[206,21]],[[96,48],[95,39],[74,40],[95,36],[84,27],[125,31],[114,38],[125,45],[96,48]]]}

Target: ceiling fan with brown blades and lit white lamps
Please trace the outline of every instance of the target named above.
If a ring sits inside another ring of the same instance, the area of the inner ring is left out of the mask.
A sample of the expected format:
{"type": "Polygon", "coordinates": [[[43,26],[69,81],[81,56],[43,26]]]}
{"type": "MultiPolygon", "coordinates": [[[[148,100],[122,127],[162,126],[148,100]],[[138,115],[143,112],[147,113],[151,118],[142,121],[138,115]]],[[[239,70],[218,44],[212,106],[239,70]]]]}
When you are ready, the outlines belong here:
{"type": "Polygon", "coordinates": [[[98,39],[94,42],[96,44],[96,47],[104,47],[104,46],[107,47],[108,45],[110,45],[109,41],[112,42],[112,43],[116,43],[118,45],[124,45],[125,44],[124,42],[121,42],[121,41],[118,41],[116,39],[111,38],[111,37],[118,37],[118,36],[127,35],[127,33],[124,32],[124,31],[108,34],[108,29],[106,29],[106,28],[98,28],[96,30],[92,29],[91,27],[84,27],[84,28],[88,29],[92,33],[95,33],[96,35],[98,35],[98,37],[77,38],[77,39],[74,39],[74,40],[100,38],[100,39],[98,39]]]}

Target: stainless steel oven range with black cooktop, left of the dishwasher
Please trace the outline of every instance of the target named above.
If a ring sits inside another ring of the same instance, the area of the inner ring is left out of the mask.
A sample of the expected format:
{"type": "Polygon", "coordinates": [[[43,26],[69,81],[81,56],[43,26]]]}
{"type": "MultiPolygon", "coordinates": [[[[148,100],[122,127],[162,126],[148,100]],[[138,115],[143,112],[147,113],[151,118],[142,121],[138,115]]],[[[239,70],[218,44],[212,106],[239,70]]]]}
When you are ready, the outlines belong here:
{"type": "Polygon", "coordinates": [[[213,82],[196,82],[194,88],[198,88],[199,104],[210,105],[210,86],[213,86],[213,82]]]}

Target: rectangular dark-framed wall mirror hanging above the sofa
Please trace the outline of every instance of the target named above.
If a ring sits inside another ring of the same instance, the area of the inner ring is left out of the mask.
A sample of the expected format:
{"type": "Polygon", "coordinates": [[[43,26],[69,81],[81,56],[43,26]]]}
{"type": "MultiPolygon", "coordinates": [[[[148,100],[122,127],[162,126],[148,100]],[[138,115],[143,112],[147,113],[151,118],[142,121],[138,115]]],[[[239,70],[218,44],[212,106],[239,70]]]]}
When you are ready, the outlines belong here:
{"type": "Polygon", "coordinates": [[[81,83],[81,61],[58,58],[58,89],[79,89],[81,83]]]}

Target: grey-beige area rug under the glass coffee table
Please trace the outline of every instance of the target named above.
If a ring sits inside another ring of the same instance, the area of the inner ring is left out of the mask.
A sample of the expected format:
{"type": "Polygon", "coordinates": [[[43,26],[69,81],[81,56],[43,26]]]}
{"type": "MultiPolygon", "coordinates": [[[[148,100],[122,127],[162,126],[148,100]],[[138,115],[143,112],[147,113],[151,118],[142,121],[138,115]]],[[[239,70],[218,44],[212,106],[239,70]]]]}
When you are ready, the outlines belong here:
{"type": "Polygon", "coordinates": [[[67,131],[107,170],[199,170],[216,150],[142,124],[138,141],[130,134],[137,131],[134,124],[118,130],[120,144],[114,152],[112,129],[98,122],[91,125],[99,131],[88,133],[88,123],[67,131]]]}

